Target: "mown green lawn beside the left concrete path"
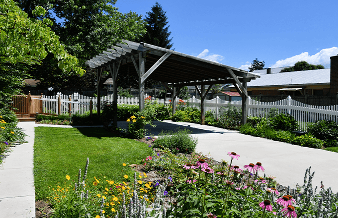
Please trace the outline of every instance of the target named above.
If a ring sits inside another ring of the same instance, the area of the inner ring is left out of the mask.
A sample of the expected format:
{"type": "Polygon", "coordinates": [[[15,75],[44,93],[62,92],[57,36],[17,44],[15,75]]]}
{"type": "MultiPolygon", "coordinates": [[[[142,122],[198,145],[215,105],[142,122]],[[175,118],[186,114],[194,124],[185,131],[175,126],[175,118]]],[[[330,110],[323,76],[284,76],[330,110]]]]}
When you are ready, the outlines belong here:
{"type": "Polygon", "coordinates": [[[121,181],[132,178],[134,171],[122,163],[141,163],[151,154],[148,145],[135,140],[114,137],[103,128],[36,127],[34,143],[34,180],[36,200],[48,196],[49,186],[66,181],[66,175],[77,181],[79,168],[84,173],[89,158],[87,179],[121,181]]]}

